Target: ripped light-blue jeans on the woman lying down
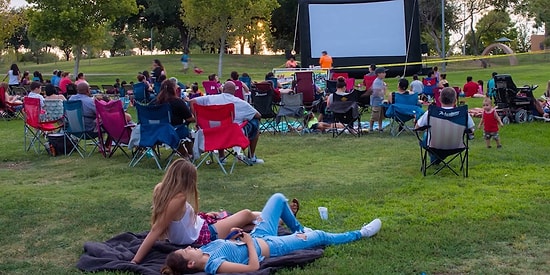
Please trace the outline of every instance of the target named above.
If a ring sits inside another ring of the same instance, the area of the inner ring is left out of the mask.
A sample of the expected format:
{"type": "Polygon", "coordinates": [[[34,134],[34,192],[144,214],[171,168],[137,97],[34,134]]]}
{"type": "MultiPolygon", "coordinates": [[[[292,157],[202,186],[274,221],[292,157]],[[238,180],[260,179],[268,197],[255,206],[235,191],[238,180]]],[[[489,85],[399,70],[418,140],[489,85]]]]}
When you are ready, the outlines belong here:
{"type": "Polygon", "coordinates": [[[295,232],[301,232],[303,226],[296,220],[287,199],[284,195],[276,193],[264,206],[262,210],[262,221],[260,221],[254,230],[252,237],[262,238],[269,246],[270,257],[287,255],[295,250],[309,249],[322,245],[344,244],[359,240],[361,232],[359,230],[345,233],[327,233],[320,230],[305,233],[305,239],[296,234],[287,236],[277,236],[279,218],[295,232]]]}

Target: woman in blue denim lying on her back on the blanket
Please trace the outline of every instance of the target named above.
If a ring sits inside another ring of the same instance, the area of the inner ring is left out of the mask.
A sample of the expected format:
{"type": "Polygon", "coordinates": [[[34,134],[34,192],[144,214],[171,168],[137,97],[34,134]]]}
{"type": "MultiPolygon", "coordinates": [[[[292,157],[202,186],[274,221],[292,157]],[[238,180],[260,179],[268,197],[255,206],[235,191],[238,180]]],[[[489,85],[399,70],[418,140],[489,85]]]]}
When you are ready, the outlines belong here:
{"type": "Polygon", "coordinates": [[[295,250],[322,245],[344,244],[375,235],[382,226],[375,219],[360,230],[345,233],[327,233],[304,228],[292,214],[287,199],[277,193],[271,196],[261,217],[250,234],[234,228],[230,240],[215,240],[201,248],[187,247],[168,255],[162,274],[185,274],[205,271],[215,273],[251,272],[260,268],[260,262],[269,257],[287,255],[295,250]],[[279,218],[295,233],[277,236],[279,218]],[[306,229],[306,230],[304,230],[306,229]],[[306,233],[303,233],[307,231],[306,233]]]}

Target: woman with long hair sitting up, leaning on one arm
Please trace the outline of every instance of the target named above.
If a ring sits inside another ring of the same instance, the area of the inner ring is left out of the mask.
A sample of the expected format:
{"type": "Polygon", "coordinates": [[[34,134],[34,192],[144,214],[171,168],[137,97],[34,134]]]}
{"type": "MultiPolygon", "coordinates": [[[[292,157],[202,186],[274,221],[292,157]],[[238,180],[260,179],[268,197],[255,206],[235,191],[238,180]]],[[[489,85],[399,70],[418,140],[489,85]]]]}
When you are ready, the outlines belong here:
{"type": "MultiPolygon", "coordinates": [[[[297,203],[297,200],[292,202],[299,207],[297,203]]],[[[227,217],[217,217],[215,213],[196,214],[198,209],[197,169],[191,162],[178,159],[155,186],[151,230],[132,263],[139,264],[157,240],[168,239],[178,245],[204,245],[227,237],[233,227],[252,229],[260,214],[244,209],[227,217]]],[[[298,212],[298,208],[293,212],[298,212]]]]}

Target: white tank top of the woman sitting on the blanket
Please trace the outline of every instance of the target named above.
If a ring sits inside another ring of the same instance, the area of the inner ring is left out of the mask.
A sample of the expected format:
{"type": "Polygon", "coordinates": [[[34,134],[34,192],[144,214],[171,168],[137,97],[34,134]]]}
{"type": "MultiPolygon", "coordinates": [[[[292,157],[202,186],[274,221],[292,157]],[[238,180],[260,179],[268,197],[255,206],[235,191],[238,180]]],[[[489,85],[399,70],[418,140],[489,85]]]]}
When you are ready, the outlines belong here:
{"type": "Polygon", "coordinates": [[[203,224],[204,220],[197,216],[193,206],[186,202],[185,214],[181,220],[172,221],[168,227],[168,240],[174,244],[192,244],[199,238],[203,224]]]}

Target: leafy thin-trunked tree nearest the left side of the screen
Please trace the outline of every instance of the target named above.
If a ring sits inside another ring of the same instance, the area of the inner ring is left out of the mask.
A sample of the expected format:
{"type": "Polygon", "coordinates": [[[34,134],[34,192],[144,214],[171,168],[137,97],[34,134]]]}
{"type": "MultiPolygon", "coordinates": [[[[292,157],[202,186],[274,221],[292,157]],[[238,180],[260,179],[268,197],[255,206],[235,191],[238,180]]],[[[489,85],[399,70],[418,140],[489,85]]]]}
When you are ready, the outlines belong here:
{"type": "Polygon", "coordinates": [[[267,20],[278,4],[271,0],[182,0],[183,20],[197,29],[199,38],[220,49],[218,75],[222,74],[222,60],[226,41],[245,33],[254,19],[267,20]]]}

